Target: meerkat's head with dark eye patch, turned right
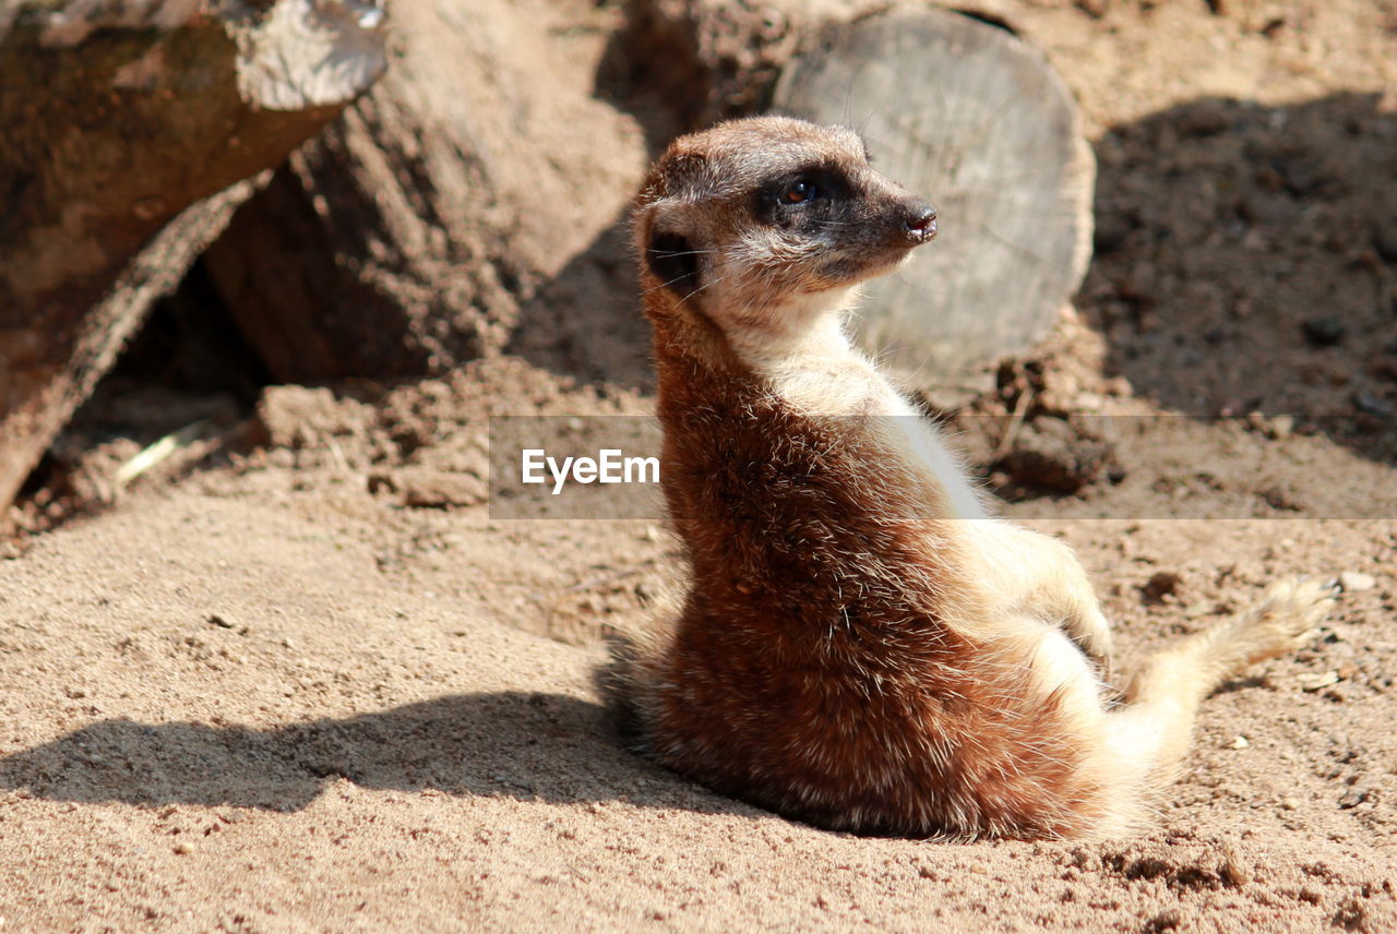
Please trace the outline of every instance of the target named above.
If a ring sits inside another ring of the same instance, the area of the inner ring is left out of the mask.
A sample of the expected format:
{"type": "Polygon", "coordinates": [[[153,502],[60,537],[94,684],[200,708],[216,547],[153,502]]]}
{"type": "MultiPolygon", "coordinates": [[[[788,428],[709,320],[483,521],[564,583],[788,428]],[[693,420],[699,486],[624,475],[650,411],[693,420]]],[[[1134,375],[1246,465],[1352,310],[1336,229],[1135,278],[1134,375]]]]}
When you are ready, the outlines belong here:
{"type": "Polygon", "coordinates": [[[636,202],[647,310],[791,332],[936,236],[930,204],[869,166],[856,133],[753,117],[680,137],[636,202]]]}

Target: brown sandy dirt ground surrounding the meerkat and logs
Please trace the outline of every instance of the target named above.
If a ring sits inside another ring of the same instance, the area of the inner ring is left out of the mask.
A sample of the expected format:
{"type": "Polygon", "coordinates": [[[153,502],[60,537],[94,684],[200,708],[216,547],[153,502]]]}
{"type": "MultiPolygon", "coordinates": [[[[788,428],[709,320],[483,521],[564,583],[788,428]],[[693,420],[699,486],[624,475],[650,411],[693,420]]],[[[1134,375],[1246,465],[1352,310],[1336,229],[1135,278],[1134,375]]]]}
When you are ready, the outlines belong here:
{"type": "MultiPolygon", "coordinates": [[[[597,63],[619,13],[576,7],[597,63]]],[[[993,392],[912,388],[1077,549],[1122,669],[1278,575],[1351,585],[1210,698],[1148,829],[861,839],[627,753],[595,676],[676,584],[662,521],[486,498],[488,416],[652,405],[633,296],[578,276],[439,380],[99,392],[0,563],[6,930],[1397,930],[1397,7],[995,10],[1081,101],[1097,258],[993,392]]]]}

